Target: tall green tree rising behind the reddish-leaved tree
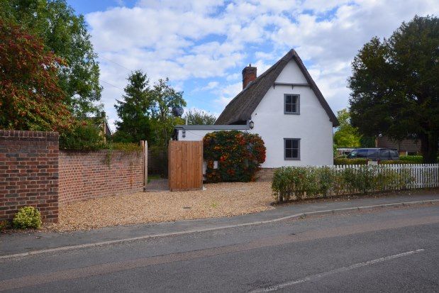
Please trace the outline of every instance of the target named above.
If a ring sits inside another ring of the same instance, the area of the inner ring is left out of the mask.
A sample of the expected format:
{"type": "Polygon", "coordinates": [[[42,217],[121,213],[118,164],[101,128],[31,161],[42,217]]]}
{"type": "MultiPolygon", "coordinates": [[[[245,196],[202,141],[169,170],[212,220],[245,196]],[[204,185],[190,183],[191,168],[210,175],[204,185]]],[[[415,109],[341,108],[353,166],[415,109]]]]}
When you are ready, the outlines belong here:
{"type": "Polygon", "coordinates": [[[75,116],[99,114],[99,65],[84,16],[75,15],[65,0],[0,0],[0,18],[38,35],[47,51],[65,60],[59,83],[75,116]]]}

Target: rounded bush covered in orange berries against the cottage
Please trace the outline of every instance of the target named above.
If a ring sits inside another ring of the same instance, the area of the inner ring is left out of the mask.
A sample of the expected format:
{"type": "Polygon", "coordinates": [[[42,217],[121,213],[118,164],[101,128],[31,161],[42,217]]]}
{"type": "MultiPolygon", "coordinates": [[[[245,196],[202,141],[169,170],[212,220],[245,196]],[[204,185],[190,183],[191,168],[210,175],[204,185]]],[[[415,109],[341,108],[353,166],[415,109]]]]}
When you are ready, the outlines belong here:
{"type": "Polygon", "coordinates": [[[249,182],[255,180],[265,162],[264,141],[257,134],[216,131],[203,138],[207,182],[249,182]],[[213,162],[218,161],[218,169],[213,162]]]}

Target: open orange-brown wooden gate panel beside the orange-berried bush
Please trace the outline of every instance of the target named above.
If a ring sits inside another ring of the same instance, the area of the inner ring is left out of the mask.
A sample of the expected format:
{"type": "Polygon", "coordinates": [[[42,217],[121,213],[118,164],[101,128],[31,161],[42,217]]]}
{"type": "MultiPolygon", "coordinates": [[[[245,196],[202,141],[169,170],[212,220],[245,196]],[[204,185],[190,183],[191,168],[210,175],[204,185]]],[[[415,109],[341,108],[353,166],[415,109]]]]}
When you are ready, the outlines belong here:
{"type": "Polygon", "coordinates": [[[203,188],[203,142],[171,140],[168,148],[170,191],[203,188]]]}

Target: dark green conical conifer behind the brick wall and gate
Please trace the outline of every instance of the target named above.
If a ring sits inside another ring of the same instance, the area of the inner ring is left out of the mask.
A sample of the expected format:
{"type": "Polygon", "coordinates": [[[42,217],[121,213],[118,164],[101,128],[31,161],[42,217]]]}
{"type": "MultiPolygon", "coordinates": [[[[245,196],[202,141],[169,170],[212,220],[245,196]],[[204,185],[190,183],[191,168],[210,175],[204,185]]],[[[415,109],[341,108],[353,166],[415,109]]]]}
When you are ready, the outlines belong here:
{"type": "Polygon", "coordinates": [[[128,77],[123,101],[117,100],[114,105],[121,121],[116,121],[113,140],[125,143],[148,140],[148,143],[154,143],[150,111],[154,101],[149,82],[147,75],[140,70],[128,77]]]}

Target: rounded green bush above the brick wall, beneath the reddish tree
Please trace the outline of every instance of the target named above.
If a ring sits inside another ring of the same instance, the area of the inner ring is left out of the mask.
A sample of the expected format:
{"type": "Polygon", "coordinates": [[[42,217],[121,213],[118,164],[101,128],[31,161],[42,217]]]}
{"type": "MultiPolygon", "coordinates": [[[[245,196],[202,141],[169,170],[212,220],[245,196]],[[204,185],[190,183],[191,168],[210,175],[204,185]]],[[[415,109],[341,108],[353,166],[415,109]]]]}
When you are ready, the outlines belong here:
{"type": "Polygon", "coordinates": [[[91,121],[76,122],[60,134],[60,150],[102,150],[104,134],[91,121]]]}

